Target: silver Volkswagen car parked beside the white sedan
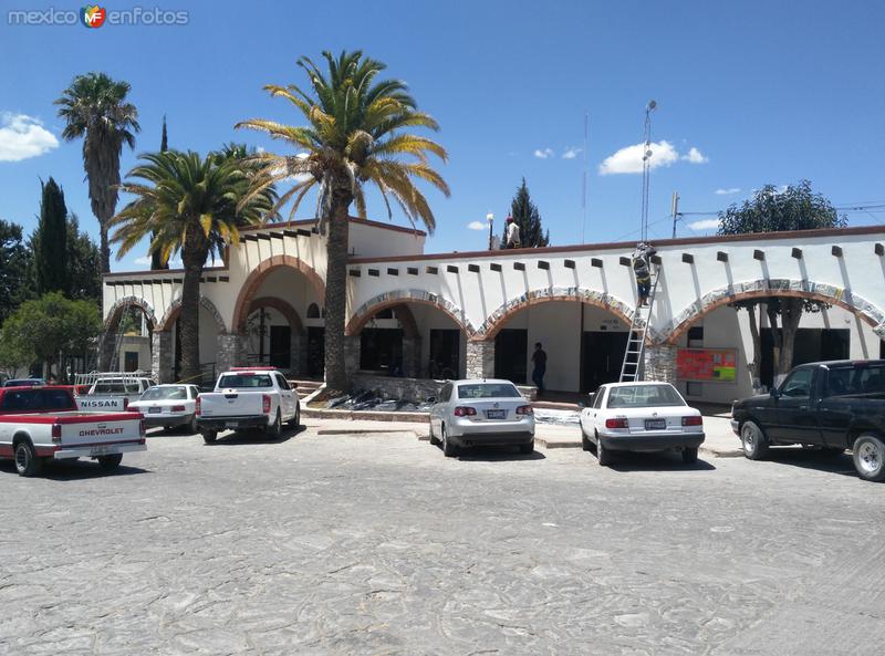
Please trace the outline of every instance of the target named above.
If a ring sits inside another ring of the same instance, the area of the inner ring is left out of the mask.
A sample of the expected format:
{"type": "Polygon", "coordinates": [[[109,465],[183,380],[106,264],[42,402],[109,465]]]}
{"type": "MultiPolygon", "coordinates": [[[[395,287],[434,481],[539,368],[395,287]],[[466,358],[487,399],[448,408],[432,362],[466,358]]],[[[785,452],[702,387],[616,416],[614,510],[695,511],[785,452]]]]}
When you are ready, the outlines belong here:
{"type": "Polygon", "coordinates": [[[452,381],[430,408],[430,444],[456,456],[464,447],[518,445],[534,450],[532,406],[510,381],[452,381]]]}

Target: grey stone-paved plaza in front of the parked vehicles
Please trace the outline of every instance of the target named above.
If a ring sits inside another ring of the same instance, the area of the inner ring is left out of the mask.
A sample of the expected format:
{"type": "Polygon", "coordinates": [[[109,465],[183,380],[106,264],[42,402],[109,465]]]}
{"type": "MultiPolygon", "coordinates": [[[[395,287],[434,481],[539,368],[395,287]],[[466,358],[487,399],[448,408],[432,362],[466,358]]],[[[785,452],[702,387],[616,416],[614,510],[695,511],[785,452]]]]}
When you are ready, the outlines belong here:
{"type": "Polygon", "coordinates": [[[2,655],[885,653],[885,486],[847,456],[448,460],[313,421],[0,492],[2,655]]]}

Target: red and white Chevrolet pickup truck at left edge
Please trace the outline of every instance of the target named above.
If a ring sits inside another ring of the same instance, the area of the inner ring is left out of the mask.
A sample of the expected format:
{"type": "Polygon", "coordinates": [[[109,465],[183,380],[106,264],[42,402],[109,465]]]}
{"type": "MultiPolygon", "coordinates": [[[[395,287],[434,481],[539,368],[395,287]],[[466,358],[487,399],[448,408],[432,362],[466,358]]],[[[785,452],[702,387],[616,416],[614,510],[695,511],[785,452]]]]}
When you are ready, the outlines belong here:
{"type": "Polygon", "coordinates": [[[48,459],[93,458],[114,469],[124,452],[146,449],[140,414],[77,410],[63,386],[0,389],[0,459],[12,458],[21,476],[39,473],[48,459]]]}

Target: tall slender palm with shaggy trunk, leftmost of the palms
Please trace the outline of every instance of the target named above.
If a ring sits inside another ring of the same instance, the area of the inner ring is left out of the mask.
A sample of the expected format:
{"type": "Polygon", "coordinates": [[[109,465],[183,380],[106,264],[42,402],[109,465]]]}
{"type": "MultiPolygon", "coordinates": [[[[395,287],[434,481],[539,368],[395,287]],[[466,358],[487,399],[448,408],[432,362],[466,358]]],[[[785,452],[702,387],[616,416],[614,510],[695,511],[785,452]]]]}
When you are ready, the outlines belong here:
{"type": "Polygon", "coordinates": [[[83,138],[83,167],[90,184],[92,214],[101,230],[102,272],[111,270],[107,222],[117,206],[119,155],[123,144],[135,147],[138,110],[126,102],[129,83],[115,81],[105,73],[77,75],[55,101],[59,116],[66,125],[62,138],[83,138]]]}

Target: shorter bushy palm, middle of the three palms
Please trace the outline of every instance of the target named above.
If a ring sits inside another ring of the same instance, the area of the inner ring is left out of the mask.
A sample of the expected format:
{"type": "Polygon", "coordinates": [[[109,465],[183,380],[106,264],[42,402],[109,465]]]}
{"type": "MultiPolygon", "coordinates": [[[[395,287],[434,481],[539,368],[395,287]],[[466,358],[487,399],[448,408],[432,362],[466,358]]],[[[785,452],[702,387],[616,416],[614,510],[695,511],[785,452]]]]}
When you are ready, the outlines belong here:
{"type": "Polygon", "coordinates": [[[273,187],[249,194],[250,170],[239,157],[210,153],[166,150],[143,155],[121,189],[136,197],[108,223],[117,227],[117,259],[153,235],[149,251],[166,264],[180,252],[185,267],[181,285],[181,377],[195,379],[200,371],[200,277],[209,258],[221,257],[228,243],[238,243],[239,229],[260,223],[271,211],[273,187]],[[247,198],[248,195],[248,198],[247,198]]]}

